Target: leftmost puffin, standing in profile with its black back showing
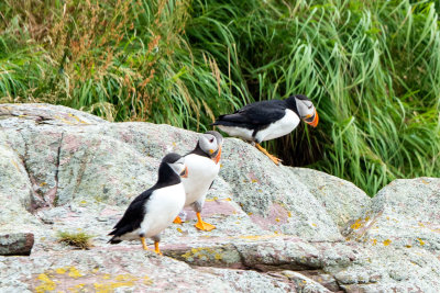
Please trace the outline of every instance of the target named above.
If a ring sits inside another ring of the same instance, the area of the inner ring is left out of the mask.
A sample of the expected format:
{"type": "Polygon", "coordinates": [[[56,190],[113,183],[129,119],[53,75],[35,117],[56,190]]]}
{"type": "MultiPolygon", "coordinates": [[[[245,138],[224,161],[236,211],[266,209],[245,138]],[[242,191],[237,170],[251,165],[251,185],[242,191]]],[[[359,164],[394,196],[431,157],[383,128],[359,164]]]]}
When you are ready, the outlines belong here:
{"type": "Polygon", "coordinates": [[[109,234],[113,236],[110,244],[141,239],[143,249],[147,250],[145,237],[150,237],[154,240],[154,251],[162,255],[158,249],[160,233],[173,223],[185,204],[180,177],[187,177],[188,169],[184,160],[184,157],[174,153],[162,159],[157,182],[130,203],[109,234]]]}

